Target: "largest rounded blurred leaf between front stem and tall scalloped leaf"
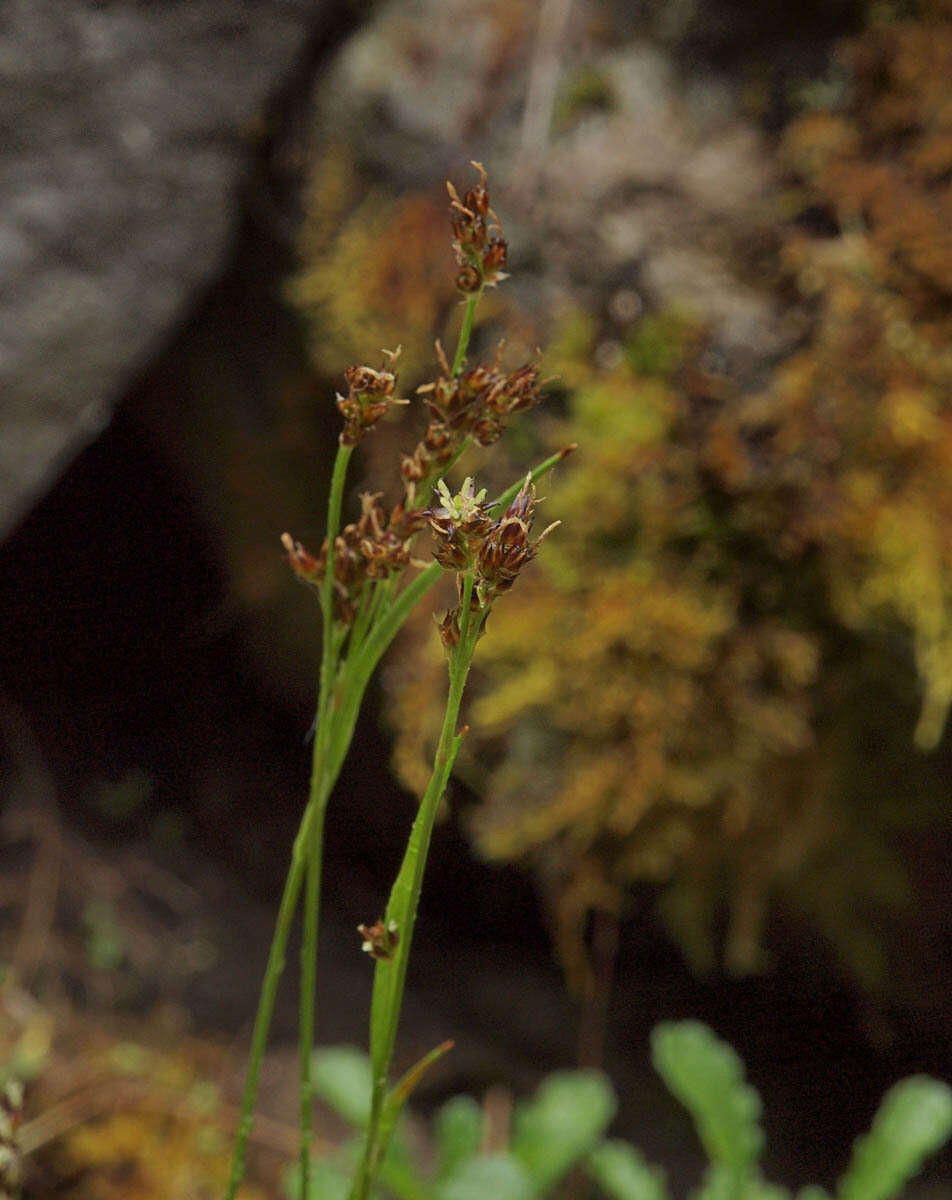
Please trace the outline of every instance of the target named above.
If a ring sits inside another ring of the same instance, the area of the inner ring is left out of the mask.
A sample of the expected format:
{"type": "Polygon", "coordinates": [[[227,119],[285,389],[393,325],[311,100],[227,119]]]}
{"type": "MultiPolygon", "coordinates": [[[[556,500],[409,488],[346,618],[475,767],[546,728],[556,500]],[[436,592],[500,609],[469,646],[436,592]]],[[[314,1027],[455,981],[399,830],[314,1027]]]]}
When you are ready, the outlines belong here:
{"type": "Polygon", "coordinates": [[[615,1108],[611,1085],[599,1072],[550,1075],[516,1110],[513,1156],[545,1192],[594,1147],[615,1108]]]}

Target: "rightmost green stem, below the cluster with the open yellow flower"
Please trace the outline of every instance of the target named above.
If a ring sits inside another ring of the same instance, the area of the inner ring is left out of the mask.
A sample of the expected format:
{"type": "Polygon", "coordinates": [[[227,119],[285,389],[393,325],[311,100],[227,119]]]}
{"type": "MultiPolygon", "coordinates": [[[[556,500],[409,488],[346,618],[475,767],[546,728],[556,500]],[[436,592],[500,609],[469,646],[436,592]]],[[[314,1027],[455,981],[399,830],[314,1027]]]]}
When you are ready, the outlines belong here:
{"type": "MultiPolygon", "coordinates": [[[[463,598],[460,612],[460,644],[454,649],[449,661],[449,694],[443,715],[443,727],[439,733],[433,770],[426,792],[420,800],[417,818],[413,822],[407,850],[400,868],[400,874],[390,893],[387,906],[385,923],[394,922],[399,941],[393,958],[379,960],[373,974],[373,998],[371,1002],[371,1062],[373,1067],[373,1091],[371,1094],[371,1114],[367,1138],[360,1168],[354,1178],[351,1200],[367,1200],[379,1171],[383,1154],[387,1150],[384,1126],[384,1105],[387,1102],[387,1084],[390,1062],[396,1043],[396,1031],[403,1004],[403,990],[409,962],[409,949],[413,940],[413,926],[417,920],[423,877],[433,823],[439,809],[439,800],[447,788],[453,764],[456,761],[463,734],[456,733],[466,678],[473,661],[479,626],[483,614],[471,617],[473,595],[473,576],[463,577],[463,598]]],[[[389,1124],[389,1122],[388,1122],[389,1124]]]]}

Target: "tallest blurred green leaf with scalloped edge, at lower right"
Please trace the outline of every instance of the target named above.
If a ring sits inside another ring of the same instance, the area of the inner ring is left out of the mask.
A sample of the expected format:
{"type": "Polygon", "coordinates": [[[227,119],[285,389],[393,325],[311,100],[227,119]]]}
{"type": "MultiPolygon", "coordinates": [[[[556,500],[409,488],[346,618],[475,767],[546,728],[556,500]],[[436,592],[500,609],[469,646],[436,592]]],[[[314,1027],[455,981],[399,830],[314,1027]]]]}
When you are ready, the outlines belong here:
{"type": "Polygon", "coordinates": [[[700,1021],[659,1025],[651,1040],[655,1069],[690,1112],[712,1162],[753,1172],[764,1148],[760,1097],[732,1048],[700,1021]]]}

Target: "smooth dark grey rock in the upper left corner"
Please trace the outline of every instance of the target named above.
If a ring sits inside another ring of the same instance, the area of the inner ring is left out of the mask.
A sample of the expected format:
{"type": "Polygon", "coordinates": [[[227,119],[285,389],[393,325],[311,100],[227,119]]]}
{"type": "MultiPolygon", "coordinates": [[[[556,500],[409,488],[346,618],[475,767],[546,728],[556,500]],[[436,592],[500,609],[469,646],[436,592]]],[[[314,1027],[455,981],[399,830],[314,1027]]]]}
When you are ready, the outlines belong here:
{"type": "Polygon", "coordinates": [[[336,0],[6,0],[0,536],[221,265],[253,122],[336,0]]]}

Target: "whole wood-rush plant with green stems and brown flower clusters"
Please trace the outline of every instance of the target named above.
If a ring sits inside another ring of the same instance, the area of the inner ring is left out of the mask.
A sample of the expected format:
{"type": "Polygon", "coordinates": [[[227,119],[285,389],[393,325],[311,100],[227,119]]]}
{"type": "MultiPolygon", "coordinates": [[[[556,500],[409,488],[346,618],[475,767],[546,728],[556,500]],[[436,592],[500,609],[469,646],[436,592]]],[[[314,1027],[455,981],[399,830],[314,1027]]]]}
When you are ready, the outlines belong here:
{"type": "Polygon", "coordinates": [[[534,482],[571,449],[540,463],[492,503],[486,500],[484,490],[477,491],[471,479],[455,494],[445,482],[445,473],[471,444],[491,445],[511,415],[540,400],[535,366],[525,365],[507,373],[497,356],[491,365],[465,370],[479,298],[485,288],[505,278],[507,262],[507,242],[490,208],[485,172],[478,163],[474,166],[479,181],[462,199],[448,185],[456,287],[465,304],[462,326],[453,362],[448,362],[437,343],[439,378],[419,389],[430,422],[420,443],[401,461],[402,499],[388,511],[381,503],[382,493],[364,493],[359,517],[341,526],[347,468],[354,448],[391,408],[408,403],[397,396],[394,368],[400,352],[396,350],[384,352],[379,368],[352,366],[345,374],[348,390],[337,396],[343,430],[331,474],[327,538],[319,553],[312,554],[289,534],[282,538],[295,575],[313,587],[321,604],[323,642],[317,721],[310,794],[294,841],[255,1021],[227,1200],[234,1200],[244,1176],[262,1057],[288,935],[299,907],[303,908],[300,1183],[303,1195],[309,1194],[324,814],[375,667],[417,604],[449,571],[456,580],[456,605],[439,623],[449,662],[449,692],[432,775],[387,911],[375,924],[361,925],[359,930],[364,949],[375,960],[370,1024],[372,1092],[364,1153],[351,1189],[353,1200],[370,1195],[400,1109],[430,1062],[447,1049],[441,1046],[427,1055],[390,1087],[390,1061],[426,853],[439,800],[465,733],[457,731],[457,720],[466,677],[496,598],[513,586],[550,532],[546,529],[541,536],[532,534],[534,482]],[[421,553],[418,540],[426,530],[435,542],[435,560],[429,565],[418,557],[421,553]]]}

